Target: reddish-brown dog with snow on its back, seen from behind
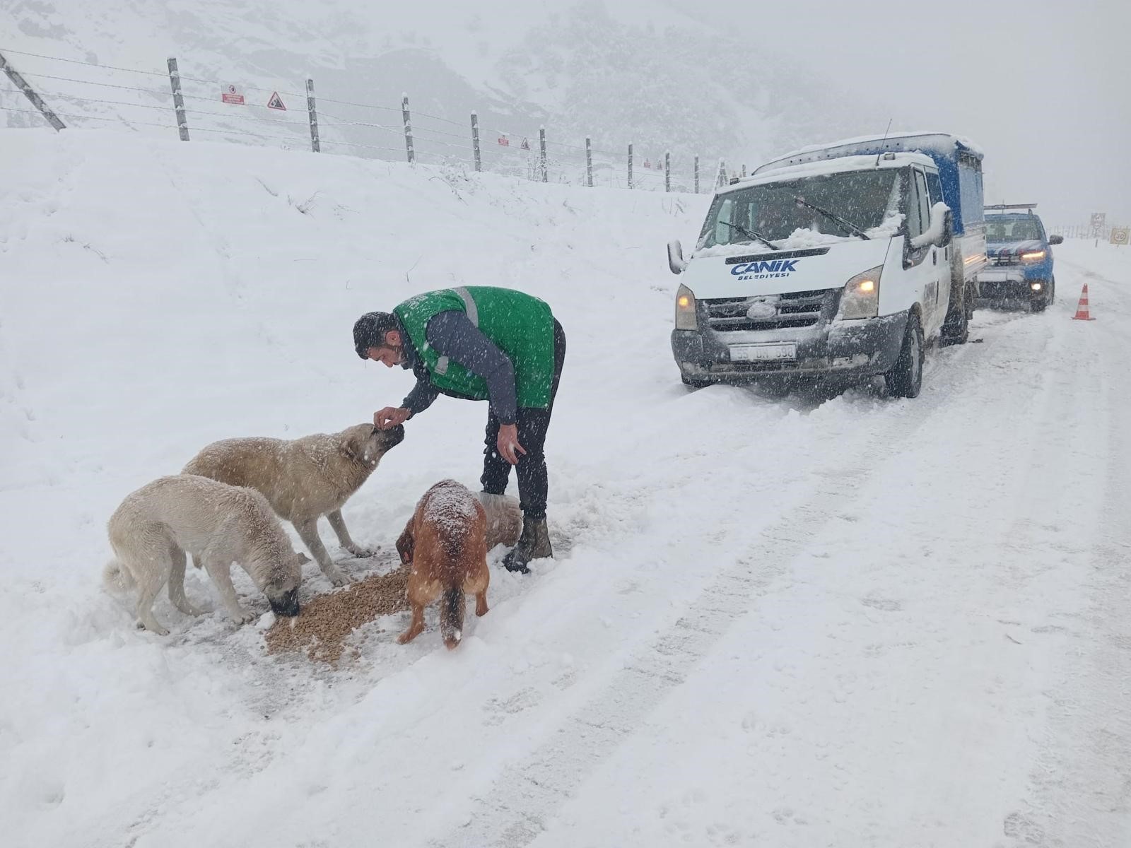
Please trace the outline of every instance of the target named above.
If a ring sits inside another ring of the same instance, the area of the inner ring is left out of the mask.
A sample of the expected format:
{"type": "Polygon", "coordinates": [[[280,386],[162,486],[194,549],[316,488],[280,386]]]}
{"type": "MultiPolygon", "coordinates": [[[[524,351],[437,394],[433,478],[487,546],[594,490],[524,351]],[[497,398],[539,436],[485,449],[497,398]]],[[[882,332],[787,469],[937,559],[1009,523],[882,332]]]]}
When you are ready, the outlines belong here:
{"type": "Polygon", "coordinates": [[[464,596],[475,595],[475,614],[487,613],[486,514],[478,499],[454,479],[424,493],[397,539],[397,552],[412,563],[406,595],[413,608],[408,630],[397,641],[411,642],[424,630],[424,607],[440,598],[440,633],[448,649],[463,639],[464,596]]]}

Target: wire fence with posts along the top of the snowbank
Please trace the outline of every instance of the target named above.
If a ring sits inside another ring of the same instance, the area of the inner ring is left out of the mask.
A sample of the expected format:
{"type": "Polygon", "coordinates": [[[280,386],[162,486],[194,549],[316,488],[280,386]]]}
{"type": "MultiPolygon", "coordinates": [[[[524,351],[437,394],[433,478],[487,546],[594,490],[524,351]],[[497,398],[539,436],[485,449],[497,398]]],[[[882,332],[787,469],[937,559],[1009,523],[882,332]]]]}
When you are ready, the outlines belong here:
{"type": "Polygon", "coordinates": [[[174,59],[163,71],[0,46],[0,69],[8,73],[0,76],[0,113],[11,116],[9,126],[54,126],[53,115],[67,127],[116,124],[183,140],[202,133],[236,144],[647,191],[710,192],[728,179],[719,159],[673,157],[655,145],[598,148],[588,138],[558,138],[516,119],[481,124],[472,111],[466,121],[414,111],[407,95],[397,105],[323,96],[313,80],[241,86],[182,73],[174,59]]]}

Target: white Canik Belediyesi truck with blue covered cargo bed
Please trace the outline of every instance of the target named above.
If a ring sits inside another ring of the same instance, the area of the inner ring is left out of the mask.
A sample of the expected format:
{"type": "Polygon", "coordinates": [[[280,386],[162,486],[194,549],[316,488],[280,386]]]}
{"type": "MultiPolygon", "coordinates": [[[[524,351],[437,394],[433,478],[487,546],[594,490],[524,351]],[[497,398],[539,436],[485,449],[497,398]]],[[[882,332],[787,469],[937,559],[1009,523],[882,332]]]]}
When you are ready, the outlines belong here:
{"type": "Polygon", "coordinates": [[[882,374],[890,393],[917,396],[925,346],[967,339],[985,263],[981,159],[941,133],[856,139],[719,189],[690,258],[668,245],[683,382],[882,374]]]}

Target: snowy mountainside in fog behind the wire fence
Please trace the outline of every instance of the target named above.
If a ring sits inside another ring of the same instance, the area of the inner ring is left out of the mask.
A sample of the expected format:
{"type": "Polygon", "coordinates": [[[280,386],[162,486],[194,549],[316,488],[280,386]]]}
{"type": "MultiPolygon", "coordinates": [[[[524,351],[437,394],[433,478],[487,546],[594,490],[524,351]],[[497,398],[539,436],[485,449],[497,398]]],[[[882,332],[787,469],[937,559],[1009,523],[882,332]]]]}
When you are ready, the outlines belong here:
{"type": "MultiPolygon", "coordinates": [[[[607,152],[601,161],[619,161],[634,142],[640,173],[646,157],[655,162],[667,149],[683,174],[694,154],[708,167],[719,157],[753,166],[814,138],[882,131],[888,118],[860,96],[849,110],[840,83],[820,78],[772,44],[760,44],[758,62],[715,64],[714,58],[741,57],[749,45],[663,0],[538,3],[521,12],[512,2],[472,8],[447,0],[430,5],[426,17],[411,6],[355,0],[250,0],[239,8],[227,0],[17,0],[0,9],[0,47],[157,72],[9,57],[21,71],[43,75],[28,78],[57,111],[76,115],[74,126],[103,126],[90,115],[124,119],[146,135],[167,136],[174,126],[169,80],[161,76],[167,57],[179,58],[185,77],[190,127],[223,130],[238,141],[251,138],[239,133],[252,132],[265,135],[260,142],[303,146],[304,114],[295,110],[304,109],[312,77],[321,97],[381,107],[323,105],[330,152],[378,158],[403,150],[403,92],[415,110],[434,115],[416,122],[425,157],[469,157],[474,109],[492,145],[509,133],[517,146],[546,124],[558,145],[552,154],[566,161],[579,156],[566,145],[579,146],[586,135],[607,152]],[[252,105],[221,104],[219,86],[227,83],[247,87],[252,105]],[[266,109],[274,90],[284,94],[288,113],[266,109]]],[[[27,109],[2,86],[0,106],[27,109]]],[[[38,119],[0,112],[0,122],[24,127],[38,119]]],[[[513,159],[510,150],[487,153],[513,159]]]]}

